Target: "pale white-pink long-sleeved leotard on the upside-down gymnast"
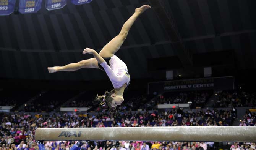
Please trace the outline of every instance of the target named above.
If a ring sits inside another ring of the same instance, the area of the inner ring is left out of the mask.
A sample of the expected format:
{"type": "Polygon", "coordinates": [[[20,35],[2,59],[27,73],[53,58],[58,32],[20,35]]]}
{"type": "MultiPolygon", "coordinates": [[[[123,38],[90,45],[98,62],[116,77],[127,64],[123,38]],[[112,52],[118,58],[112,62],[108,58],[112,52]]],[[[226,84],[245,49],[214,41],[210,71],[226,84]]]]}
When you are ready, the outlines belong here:
{"type": "Polygon", "coordinates": [[[109,76],[110,81],[114,88],[120,88],[125,83],[127,86],[130,84],[130,74],[128,73],[127,66],[125,63],[119,59],[116,55],[113,55],[109,60],[110,66],[107,62],[103,62],[100,65],[104,68],[109,76]]]}

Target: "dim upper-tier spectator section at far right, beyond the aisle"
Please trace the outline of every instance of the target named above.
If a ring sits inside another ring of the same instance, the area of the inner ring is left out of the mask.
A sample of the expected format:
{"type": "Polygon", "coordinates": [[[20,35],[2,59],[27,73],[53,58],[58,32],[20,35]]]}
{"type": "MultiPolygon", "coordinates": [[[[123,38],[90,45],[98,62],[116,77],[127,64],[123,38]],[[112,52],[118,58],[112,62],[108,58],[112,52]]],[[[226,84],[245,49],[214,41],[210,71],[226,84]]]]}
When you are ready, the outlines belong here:
{"type": "Polygon", "coordinates": [[[217,94],[214,107],[251,107],[256,106],[255,92],[222,91],[217,94]]]}

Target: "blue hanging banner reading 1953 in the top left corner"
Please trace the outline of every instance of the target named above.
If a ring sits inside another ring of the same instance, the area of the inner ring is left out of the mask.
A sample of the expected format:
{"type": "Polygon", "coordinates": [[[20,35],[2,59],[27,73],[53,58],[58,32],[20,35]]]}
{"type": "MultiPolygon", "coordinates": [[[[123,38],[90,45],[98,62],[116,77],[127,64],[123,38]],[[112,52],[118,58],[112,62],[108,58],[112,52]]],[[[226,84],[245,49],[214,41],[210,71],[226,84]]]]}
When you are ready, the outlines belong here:
{"type": "Polygon", "coordinates": [[[16,0],[0,0],[0,16],[13,13],[16,0]]]}

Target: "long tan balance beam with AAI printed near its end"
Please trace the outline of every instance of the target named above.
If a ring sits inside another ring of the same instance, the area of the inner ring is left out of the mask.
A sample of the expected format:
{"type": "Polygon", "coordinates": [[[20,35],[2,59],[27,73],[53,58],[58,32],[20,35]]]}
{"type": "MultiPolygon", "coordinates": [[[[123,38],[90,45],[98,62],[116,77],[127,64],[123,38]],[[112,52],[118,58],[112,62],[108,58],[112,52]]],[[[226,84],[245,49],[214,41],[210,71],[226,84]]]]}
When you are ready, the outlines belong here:
{"type": "Polygon", "coordinates": [[[256,142],[256,126],[42,128],[36,140],[256,142]]]}

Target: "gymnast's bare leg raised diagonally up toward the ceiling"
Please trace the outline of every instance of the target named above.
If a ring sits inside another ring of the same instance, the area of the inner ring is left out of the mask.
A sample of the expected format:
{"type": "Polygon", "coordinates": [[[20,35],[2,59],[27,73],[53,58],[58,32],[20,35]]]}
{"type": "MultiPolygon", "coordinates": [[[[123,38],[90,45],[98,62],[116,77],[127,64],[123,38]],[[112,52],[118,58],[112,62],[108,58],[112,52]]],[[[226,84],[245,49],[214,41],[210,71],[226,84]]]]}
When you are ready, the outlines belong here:
{"type": "Polygon", "coordinates": [[[123,24],[120,33],[102,48],[99,55],[103,58],[112,57],[122,46],[131,26],[139,15],[149,8],[151,8],[149,5],[143,5],[140,8],[136,8],[134,14],[125,22],[125,24],[123,24]]]}

